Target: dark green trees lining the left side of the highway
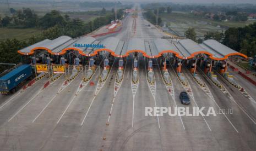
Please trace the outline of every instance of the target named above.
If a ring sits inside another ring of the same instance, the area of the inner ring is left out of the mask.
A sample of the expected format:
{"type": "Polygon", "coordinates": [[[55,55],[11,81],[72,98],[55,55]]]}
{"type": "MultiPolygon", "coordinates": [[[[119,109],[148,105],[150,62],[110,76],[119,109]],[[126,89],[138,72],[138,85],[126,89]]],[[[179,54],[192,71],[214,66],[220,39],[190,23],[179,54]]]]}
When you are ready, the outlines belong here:
{"type": "MultiPolygon", "coordinates": [[[[26,9],[23,9],[23,12],[26,9]]],[[[21,25],[29,24],[30,19],[27,13],[24,15],[21,25]],[[25,23],[24,23],[25,22],[25,23]]],[[[35,15],[35,14],[34,14],[35,15]]],[[[33,16],[33,14],[32,14],[33,16]]],[[[117,10],[117,19],[122,19],[123,9],[117,10]]],[[[0,62],[3,63],[18,63],[21,62],[21,56],[17,53],[19,49],[28,47],[29,45],[40,42],[43,39],[55,39],[59,36],[66,35],[72,38],[83,36],[84,34],[90,33],[96,30],[100,26],[111,23],[111,20],[115,20],[115,13],[112,11],[106,11],[102,16],[97,17],[89,22],[83,22],[80,19],[70,19],[68,15],[61,15],[59,11],[52,10],[50,13],[45,14],[38,21],[40,27],[43,28],[41,34],[31,36],[26,40],[7,39],[0,42],[0,62]]],[[[0,66],[0,72],[4,67],[0,66]]]]}

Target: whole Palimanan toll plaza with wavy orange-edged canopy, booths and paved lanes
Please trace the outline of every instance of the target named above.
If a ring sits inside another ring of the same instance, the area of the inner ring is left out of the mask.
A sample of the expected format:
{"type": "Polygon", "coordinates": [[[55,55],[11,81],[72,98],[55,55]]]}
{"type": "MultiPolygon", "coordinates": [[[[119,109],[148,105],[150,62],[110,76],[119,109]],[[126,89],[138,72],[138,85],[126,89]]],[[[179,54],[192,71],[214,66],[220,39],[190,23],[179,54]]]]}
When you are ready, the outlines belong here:
{"type": "Polygon", "coordinates": [[[255,150],[256,88],[232,63],[246,55],[167,34],[140,11],[122,22],[18,51],[36,77],[0,97],[0,150],[255,150]],[[216,115],[146,115],[150,107],[216,115]]]}

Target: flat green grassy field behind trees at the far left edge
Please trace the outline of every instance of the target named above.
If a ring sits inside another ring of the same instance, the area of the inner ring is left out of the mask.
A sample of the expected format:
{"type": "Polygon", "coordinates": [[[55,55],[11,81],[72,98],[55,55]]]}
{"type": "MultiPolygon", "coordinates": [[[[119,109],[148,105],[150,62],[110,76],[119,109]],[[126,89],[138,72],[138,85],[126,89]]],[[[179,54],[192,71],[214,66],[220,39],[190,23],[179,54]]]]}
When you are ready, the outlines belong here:
{"type": "Polygon", "coordinates": [[[25,40],[32,35],[40,34],[41,30],[35,28],[17,29],[17,28],[0,28],[0,41],[5,39],[16,38],[18,40],[25,40]]]}

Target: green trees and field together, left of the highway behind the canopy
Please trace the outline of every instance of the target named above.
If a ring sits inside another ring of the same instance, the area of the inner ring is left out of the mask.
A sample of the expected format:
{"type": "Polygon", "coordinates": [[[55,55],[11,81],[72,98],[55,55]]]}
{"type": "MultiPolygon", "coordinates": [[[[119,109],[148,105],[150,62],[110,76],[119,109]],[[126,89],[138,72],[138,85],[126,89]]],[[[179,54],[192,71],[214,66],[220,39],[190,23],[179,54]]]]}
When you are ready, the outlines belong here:
{"type": "MultiPolygon", "coordinates": [[[[5,38],[19,35],[19,32],[32,31],[30,36],[24,38],[10,38],[0,42],[0,62],[2,63],[18,63],[22,61],[21,56],[17,51],[25,48],[31,44],[40,42],[43,39],[55,39],[59,36],[79,37],[91,31],[96,30],[100,26],[110,24],[111,20],[115,20],[115,13],[112,10],[102,8],[101,16],[94,18],[88,22],[83,22],[80,19],[70,19],[69,15],[62,15],[57,10],[52,10],[39,18],[31,9],[25,8],[18,11],[17,14],[12,16],[5,16],[0,19],[0,33],[4,32],[1,36],[5,38]],[[19,12],[19,13],[18,13],[19,12]],[[99,24],[100,21],[100,24],[99,24]],[[13,30],[13,31],[12,31],[13,30]],[[15,31],[17,33],[15,33],[15,31]],[[20,40],[23,39],[23,40],[20,40]]],[[[117,19],[122,19],[123,9],[117,10],[117,19]]],[[[28,35],[28,34],[27,34],[28,35]]],[[[4,39],[5,39],[4,38],[4,39]]],[[[0,72],[5,68],[0,66],[0,72]]]]}

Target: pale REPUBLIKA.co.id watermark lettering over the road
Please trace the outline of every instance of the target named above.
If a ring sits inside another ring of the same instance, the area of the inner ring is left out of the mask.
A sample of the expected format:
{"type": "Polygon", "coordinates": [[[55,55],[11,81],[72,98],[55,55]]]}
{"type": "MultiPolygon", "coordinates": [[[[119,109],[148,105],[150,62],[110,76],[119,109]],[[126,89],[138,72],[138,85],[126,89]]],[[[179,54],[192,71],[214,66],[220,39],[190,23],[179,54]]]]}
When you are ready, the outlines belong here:
{"type": "Polygon", "coordinates": [[[233,114],[232,108],[215,110],[214,107],[145,107],[145,116],[163,116],[168,114],[174,116],[216,116],[217,114],[233,114]]]}

